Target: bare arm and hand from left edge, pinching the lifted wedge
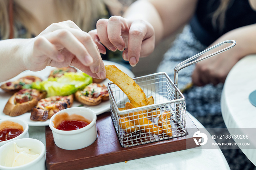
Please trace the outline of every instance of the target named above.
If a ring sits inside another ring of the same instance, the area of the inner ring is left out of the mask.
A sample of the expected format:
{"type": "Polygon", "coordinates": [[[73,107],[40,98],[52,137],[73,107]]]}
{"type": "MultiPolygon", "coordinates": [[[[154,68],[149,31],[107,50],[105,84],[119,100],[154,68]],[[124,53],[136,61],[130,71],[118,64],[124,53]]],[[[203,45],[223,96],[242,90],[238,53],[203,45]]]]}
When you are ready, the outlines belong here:
{"type": "Polygon", "coordinates": [[[54,23],[37,37],[0,41],[0,82],[23,70],[74,66],[95,78],[106,78],[104,63],[91,36],[74,22],[54,23]]]}

